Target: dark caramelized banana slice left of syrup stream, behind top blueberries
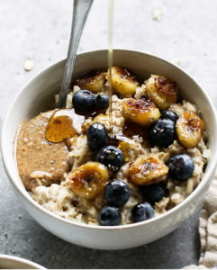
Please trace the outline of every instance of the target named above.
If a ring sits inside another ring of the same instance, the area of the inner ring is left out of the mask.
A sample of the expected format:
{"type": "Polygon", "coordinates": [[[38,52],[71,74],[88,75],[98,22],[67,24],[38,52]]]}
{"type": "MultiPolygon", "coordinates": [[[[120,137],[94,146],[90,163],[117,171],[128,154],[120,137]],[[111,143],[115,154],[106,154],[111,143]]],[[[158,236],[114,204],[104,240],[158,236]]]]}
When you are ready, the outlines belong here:
{"type": "Polygon", "coordinates": [[[91,72],[83,78],[77,78],[74,85],[93,93],[104,92],[105,74],[103,71],[91,72]]]}

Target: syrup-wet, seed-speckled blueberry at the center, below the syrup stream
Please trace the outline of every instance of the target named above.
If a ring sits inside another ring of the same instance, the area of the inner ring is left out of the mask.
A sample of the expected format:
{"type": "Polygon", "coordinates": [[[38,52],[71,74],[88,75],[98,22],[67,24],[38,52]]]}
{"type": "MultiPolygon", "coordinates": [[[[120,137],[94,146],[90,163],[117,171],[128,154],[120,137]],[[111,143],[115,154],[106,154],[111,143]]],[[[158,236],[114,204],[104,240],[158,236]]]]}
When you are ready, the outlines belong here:
{"type": "Polygon", "coordinates": [[[122,151],[114,146],[107,146],[99,150],[95,161],[103,163],[111,171],[118,171],[124,163],[122,151]]]}

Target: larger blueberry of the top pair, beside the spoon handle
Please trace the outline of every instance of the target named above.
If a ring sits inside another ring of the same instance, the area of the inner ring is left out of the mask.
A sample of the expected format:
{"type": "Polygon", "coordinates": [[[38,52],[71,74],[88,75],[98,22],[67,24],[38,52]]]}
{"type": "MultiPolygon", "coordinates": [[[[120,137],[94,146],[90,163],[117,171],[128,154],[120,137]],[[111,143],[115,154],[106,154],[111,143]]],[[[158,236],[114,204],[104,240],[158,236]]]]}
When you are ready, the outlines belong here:
{"type": "Polygon", "coordinates": [[[88,90],[79,90],[73,95],[72,103],[80,112],[91,111],[95,107],[95,94],[88,90]]]}

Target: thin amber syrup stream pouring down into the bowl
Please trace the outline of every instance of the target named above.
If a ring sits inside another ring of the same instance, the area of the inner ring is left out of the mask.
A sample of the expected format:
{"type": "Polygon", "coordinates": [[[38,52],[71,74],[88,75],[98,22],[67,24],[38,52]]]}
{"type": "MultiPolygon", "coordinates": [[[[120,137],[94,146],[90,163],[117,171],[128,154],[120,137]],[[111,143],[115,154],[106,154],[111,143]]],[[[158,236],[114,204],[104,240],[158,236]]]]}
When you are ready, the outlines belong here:
{"type": "Polygon", "coordinates": [[[113,67],[113,0],[109,0],[109,22],[108,22],[108,69],[109,69],[109,126],[110,136],[113,138],[113,120],[112,120],[112,67],[113,67]]]}

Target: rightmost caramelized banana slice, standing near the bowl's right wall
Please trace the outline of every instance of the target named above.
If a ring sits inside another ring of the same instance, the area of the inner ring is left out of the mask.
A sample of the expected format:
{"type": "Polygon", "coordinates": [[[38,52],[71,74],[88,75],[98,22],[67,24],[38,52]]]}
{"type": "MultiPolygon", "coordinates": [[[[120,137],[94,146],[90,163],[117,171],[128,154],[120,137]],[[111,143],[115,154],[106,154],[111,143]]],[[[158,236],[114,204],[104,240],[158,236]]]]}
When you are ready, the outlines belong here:
{"type": "Polygon", "coordinates": [[[194,148],[200,141],[204,121],[194,112],[183,112],[176,121],[177,138],[185,148],[194,148]]]}

